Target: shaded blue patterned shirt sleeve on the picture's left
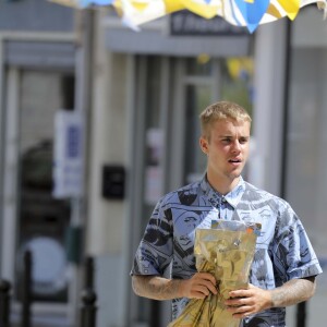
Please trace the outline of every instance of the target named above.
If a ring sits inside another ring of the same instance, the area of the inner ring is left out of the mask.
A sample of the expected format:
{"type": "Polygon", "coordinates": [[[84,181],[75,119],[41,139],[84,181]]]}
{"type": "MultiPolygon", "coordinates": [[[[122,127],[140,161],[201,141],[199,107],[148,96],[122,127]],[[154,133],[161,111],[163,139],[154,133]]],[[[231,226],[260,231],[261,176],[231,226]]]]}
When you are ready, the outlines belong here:
{"type": "Polygon", "coordinates": [[[172,259],[171,210],[157,203],[136,251],[131,275],[162,276],[172,259]]]}

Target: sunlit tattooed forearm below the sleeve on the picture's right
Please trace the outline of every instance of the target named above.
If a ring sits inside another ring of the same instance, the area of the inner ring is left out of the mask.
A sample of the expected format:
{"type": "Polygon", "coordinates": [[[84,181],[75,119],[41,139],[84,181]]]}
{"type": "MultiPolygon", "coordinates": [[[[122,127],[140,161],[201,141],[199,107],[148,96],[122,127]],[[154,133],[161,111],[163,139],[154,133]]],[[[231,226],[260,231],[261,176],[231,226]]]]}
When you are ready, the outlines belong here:
{"type": "Polygon", "coordinates": [[[271,306],[289,306],[308,300],[315,292],[315,278],[292,279],[271,291],[271,306]]]}

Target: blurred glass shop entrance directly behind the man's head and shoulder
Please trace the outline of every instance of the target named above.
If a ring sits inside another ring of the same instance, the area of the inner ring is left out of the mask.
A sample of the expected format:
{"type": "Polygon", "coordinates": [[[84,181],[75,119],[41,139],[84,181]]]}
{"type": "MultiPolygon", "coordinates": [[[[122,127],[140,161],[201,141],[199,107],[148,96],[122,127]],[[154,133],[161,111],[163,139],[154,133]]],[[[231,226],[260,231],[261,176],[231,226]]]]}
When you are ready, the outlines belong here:
{"type": "MultiPolygon", "coordinates": [[[[198,114],[219,99],[252,110],[251,58],[214,59],[137,57],[131,173],[133,257],[157,201],[201,178],[198,114]]],[[[132,294],[131,325],[167,326],[170,303],[132,294]]]]}

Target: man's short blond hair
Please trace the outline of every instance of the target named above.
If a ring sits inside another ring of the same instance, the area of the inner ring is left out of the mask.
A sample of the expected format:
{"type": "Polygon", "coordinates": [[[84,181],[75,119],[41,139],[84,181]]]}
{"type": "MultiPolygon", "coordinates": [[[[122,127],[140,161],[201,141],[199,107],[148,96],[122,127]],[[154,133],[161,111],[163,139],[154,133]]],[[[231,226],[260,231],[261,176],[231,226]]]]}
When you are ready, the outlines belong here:
{"type": "Polygon", "coordinates": [[[240,105],[231,101],[219,101],[208,106],[199,114],[202,135],[209,137],[213,123],[217,120],[227,119],[239,122],[247,121],[250,123],[252,121],[247,111],[240,105]]]}

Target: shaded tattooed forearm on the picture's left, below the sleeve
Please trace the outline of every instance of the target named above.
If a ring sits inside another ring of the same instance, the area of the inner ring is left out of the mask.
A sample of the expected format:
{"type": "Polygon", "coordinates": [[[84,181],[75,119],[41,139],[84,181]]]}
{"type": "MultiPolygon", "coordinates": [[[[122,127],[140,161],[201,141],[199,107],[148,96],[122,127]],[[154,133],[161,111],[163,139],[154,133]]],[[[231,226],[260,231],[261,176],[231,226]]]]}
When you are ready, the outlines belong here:
{"type": "Polygon", "coordinates": [[[132,287],[140,296],[154,300],[171,300],[181,298],[180,284],[182,280],[166,279],[158,276],[133,276],[132,287]]]}

